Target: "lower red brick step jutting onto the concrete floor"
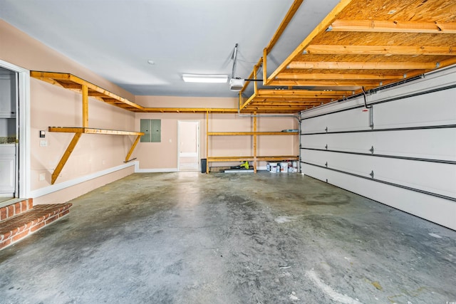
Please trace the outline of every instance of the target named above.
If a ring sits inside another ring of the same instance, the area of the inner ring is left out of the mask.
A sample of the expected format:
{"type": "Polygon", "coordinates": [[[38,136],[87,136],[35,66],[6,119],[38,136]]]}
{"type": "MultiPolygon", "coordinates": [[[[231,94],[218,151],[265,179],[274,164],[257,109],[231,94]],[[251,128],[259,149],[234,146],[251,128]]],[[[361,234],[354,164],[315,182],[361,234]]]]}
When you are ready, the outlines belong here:
{"type": "Polygon", "coordinates": [[[71,203],[36,205],[29,211],[0,221],[0,249],[68,214],[72,205],[71,203]]]}

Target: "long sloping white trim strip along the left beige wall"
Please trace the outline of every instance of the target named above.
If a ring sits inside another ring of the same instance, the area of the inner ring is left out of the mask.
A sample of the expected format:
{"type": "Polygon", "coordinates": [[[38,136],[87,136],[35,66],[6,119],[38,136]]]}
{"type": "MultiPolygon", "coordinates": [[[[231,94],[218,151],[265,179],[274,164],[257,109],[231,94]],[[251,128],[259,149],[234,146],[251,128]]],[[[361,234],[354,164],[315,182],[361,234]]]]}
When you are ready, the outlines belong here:
{"type": "Polygon", "coordinates": [[[84,175],[83,177],[78,177],[76,179],[71,179],[66,182],[61,182],[59,184],[53,184],[48,187],[43,187],[41,189],[33,190],[30,192],[31,198],[35,199],[36,197],[40,197],[40,196],[43,196],[46,194],[57,192],[57,191],[66,189],[68,187],[73,187],[73,186],[76,186],[77,184],[87,182],[90,179],[96,179],[98,177],[102,177],[103,175],[110,174],[110,173],[113,173],[113,172],[116,172],[116,171],[119,171],[119,170],[122,170],[122,169],[125,169],[128,167],[132,167],[132,166],[135,166],[135,171],[136,171],[136,167],[138,167],[138,161],[128,162],[127,164],[120,164],[120,166],[117,166],[117,167],[111,167],[111,168],[105,169],[103,171],[98,171],[98,172],[94,172],[92,174],[84,175]]]}

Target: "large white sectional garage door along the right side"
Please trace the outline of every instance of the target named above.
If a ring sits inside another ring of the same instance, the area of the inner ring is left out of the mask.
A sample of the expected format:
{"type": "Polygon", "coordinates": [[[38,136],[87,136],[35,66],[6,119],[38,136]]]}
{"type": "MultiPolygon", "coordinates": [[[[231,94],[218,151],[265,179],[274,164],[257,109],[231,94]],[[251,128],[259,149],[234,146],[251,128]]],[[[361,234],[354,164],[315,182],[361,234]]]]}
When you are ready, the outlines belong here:
{"type": "Polygon", "coordinates": [[[455,68],[301,118],[304,174],[456,229],[455,68]]]}

